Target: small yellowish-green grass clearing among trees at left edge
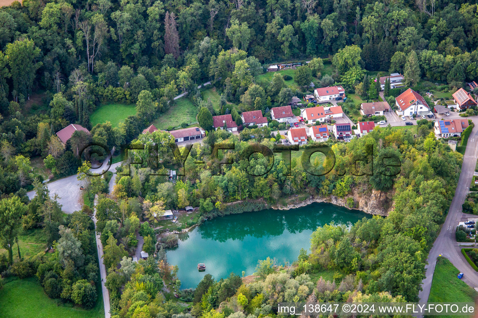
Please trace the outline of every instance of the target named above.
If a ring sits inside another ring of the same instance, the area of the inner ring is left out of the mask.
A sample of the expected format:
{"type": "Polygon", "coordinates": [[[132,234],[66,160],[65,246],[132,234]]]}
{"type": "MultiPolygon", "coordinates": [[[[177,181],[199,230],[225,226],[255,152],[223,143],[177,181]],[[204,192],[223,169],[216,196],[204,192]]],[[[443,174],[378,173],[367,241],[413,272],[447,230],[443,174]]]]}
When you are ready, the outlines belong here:
{"type": "MultiPolygon", "coordinates": [[[[22,230],[18,236],[18,245],[20,246],[20,254],[22,257],[37,255],[38,253],[45,251],[46,237],[44,236],[42,229],[39,228],[27,231],[22,230]]],[[[7,255],[7,250],[0,248],[0,254],[7,255]]],[[[13,261],[18,261],[18,250],[16,243],[13,245],[13,261]]]]}

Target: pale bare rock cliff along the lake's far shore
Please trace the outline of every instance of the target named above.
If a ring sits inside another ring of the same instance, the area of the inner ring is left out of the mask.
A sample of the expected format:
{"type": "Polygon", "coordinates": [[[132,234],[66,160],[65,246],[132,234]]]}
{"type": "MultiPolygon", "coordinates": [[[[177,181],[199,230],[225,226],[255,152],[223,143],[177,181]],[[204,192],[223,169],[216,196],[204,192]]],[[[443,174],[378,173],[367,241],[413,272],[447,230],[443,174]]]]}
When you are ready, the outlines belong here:
{"type": "Polygon", "coordinates": [[[302,202],[295,202],[286,206],[272,205],[272,208],[279,209],[279,210],[288,210],[288,209],[293,209],[296,207],[309,205],[314,202],[328,202],[335,205],[344,206],[348,209],[361,210],[365,213],[369,213],[373,215],[388,216],[389,212],[392,209],[392,194],[372,190],[371,194],[359,195],[353,189],[352,193],[346,196],[345,198],[339,198],[334,195],[331,195],[329,197],[310,196],[309,198],[307,198],[306,200],[302,202]],[[347,204],[347,199],[349,197],[353,198],[354,200],[354,205],[352,208],[350,208],[347,204]]]}

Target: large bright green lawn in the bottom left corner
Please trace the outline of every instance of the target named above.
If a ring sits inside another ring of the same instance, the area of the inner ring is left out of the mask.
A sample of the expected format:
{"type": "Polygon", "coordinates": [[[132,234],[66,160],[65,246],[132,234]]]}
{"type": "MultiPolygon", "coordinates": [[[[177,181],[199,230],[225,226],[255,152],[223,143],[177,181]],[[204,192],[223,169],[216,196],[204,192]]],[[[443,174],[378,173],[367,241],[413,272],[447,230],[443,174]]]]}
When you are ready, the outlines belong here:
{"type": "Polygon", "coordinates": [[[0,289],[2,318],[101,318],[105,317],[101,292],[90,310],[62,304],[59,299],[45,295],[36,277],[15,279],[0,289]]]}

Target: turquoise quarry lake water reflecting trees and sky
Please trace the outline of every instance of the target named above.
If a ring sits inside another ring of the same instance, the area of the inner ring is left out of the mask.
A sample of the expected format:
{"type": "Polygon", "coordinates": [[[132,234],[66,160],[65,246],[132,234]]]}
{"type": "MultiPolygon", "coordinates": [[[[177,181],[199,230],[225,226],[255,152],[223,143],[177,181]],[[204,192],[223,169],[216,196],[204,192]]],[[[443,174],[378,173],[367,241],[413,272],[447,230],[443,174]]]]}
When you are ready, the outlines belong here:
{"type": "Polygon", "coordinates": [[[268,256],[280,264],[292,263],[301,248],[310,252],[310,236],[318,226],[351,226],[363,217],[371,215],[330,203],[226,215],[182,235],[178,247],[166,255],[169,264],[179,267],[181,289],[195,288],[206,274],[216,279],[231,272],[251,275],[257,261],[268,256]],[[199,272],[198,263],[204,263],[206,271],[199,272]]]}

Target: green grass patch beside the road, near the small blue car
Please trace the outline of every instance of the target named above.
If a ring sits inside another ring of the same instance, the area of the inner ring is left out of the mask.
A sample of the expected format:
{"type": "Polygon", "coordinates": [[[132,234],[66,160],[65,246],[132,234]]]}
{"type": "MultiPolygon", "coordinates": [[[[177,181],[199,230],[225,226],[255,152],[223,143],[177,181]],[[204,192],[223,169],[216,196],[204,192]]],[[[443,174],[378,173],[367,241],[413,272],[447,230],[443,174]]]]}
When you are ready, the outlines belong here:
{"type": "MultiPolygon", "coordinates": [[[[435,273],[433,274],[432,288],[429,302],[475,302],[478,293],[465,282],[456,278],[460,271],[454,267],[445,257],[438,257],[435,273]],[[444,288],[446,287],[446,288],[444,288]]],[[[440,316],[448,317],[448,316],[440,316]]],[[[469,316],[450,316],[469,317],[469,316]]]]}

